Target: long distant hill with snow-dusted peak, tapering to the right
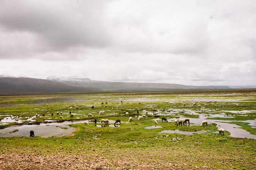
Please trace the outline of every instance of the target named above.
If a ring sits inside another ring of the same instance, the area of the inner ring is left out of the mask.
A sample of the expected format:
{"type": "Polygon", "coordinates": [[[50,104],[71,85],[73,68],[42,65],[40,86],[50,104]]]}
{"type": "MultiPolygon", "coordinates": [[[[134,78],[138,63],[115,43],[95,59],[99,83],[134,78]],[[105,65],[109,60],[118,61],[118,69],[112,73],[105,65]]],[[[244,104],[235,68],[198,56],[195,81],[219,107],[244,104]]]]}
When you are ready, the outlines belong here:
{"type": "Polygon", "coordinates": [[[228,86],[188,86],[168,83],[129,83],[107,82],[88,78],[56,77],[46,79],[77,87],[98,88],[110,91],[144,91],[144,90],[177,90],[177,89],[229,89],[228,86]]]}

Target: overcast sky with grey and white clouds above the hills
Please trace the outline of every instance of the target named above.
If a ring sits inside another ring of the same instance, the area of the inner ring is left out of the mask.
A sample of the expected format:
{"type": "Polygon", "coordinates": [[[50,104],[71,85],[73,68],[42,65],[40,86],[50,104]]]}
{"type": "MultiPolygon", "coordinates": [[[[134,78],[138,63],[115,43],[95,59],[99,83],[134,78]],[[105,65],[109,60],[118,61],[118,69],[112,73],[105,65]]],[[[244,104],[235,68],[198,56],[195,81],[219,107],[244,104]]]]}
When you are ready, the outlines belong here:
{"type": "Polygon", "coordinates": [[[1,0],[0,74],[256,85],[255,0],[1,0]]]}

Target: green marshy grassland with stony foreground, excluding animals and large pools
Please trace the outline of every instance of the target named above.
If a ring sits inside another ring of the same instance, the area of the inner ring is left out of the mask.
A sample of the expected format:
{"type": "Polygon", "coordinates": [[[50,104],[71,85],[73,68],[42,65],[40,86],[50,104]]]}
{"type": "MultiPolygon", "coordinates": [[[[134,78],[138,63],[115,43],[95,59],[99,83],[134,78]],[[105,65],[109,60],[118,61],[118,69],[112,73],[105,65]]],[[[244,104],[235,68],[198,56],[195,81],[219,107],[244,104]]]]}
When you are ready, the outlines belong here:
{"type": "MultiPolygon", "coordinates": [[[[46,115],[22,124],[39,124],[46,119],[59,121],[57,111],[65,113],[63,121],[87,120],[88,113],[98,120],[98,125],[106,117],[122,121],[120,127],[96,127],[93,122],[71,124],[77,131],[63,137],[0,137],[0,169],[255,169],[256,140],[233,138],[229,131],[221,136],[216,133],[215,124],[202,127],[190,122],[191,126],[176,126],[174,122],[158,121],[162,128],[145,129],[154,125],[152,119],[161,117],[196,120],[201,115],[221,114],[207,120],[229,120],[226,123],[237,124],[255,135],[256,128],[243,122],[256,119],[255,101],[254,90],[0,96],[0,119],[7,117],[4,115],[18,116],[20,120],[35,114],[46,115]],[[193,102],[199,101],[201,108],[192,107],[193,102]],[[211,101],[209,105],[207,101],[211,101]],[[79,108],[71,110],[71,119],[66,113],[75,105],[79,108]],[[106,114],[99,115],[101,110],[106,114]],[[157,110],[157,115],[152,114],[153,110],[157,110]],[[137,121],[135,116],[145,111],[149,112],[147,117],[137,121]],[[134,121],[128,124],[130,116],[134,121]],[[195,134],[159,133],[176,129],[195,134]],[[201,130],[205,133],[196,133],[201,130]]],[[[18,123],[0,128],[15,124],[18,123]]]]}

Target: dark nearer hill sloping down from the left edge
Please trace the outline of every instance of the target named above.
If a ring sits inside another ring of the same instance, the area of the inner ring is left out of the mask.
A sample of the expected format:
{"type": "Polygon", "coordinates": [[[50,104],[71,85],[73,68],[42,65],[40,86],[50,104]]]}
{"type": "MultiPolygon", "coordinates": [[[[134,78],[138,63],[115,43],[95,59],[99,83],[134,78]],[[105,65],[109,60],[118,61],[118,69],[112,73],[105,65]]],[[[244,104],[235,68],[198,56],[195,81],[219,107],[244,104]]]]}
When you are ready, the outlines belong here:
{"type": "Polygon", "coordinates": [[[95,93],[96,88],[75,87],[64,83],[28,77],[0,77],[0,94],[95,93]]]}

